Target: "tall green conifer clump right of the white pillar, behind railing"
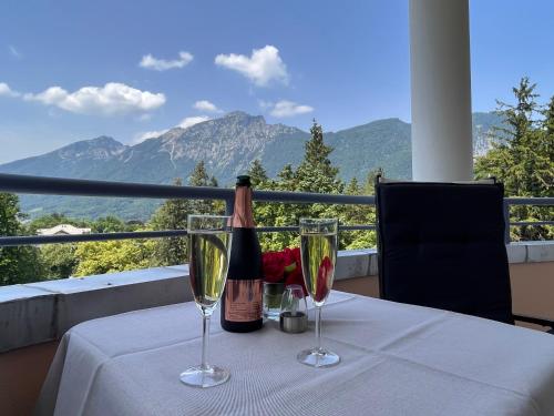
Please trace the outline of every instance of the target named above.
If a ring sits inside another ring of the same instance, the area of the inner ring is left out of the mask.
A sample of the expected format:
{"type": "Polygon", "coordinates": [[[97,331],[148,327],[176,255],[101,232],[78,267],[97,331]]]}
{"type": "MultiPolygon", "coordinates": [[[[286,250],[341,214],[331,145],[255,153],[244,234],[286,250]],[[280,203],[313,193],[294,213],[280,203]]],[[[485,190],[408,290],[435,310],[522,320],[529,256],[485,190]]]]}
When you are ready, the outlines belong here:
{"type": "MultiPolygon", "coordinates": [[[[475,161],[478,177],[495,176],[504,183],[507,196],[553,196],[554,156],[552,125],[554,103],[540,111],[534,92],[536,84],[523,78],[512,91],[515,104],[499,102],[497,112],[505,125],[495,129],[492,149],[475,161]],[[537,120],[543,114],[542,121],[537,120]]],[[[517,221],[552,219],[552,210],[529,205],[512,209],[517,221]]],[[[548,226],[523,226],[511,230],[514,240],[552,239],[548,226]]]]}

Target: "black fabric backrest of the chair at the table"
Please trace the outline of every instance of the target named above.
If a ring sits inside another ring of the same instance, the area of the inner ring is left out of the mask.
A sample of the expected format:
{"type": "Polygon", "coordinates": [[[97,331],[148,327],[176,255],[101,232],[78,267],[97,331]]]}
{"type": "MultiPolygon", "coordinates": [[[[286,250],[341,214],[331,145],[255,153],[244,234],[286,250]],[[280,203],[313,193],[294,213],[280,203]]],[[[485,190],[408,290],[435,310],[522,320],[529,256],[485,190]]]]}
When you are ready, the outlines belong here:
{"type": "Polygon", "coordinates": [[[513,324],[500,183],[376,181],[381,297],[513,324]]]}

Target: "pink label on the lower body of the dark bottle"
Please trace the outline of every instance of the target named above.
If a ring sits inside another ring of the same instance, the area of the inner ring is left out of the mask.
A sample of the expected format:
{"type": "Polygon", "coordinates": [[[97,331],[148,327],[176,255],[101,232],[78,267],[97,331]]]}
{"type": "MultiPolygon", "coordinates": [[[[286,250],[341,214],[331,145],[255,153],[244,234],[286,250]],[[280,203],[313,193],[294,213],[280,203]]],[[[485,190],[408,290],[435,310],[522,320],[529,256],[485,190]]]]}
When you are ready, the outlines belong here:
{"type": "Polygon", "coordinates": [[[261,319],[261,295],[264,282],[227,281],[225,285],[225,319],[252,322],[261,319]]]}

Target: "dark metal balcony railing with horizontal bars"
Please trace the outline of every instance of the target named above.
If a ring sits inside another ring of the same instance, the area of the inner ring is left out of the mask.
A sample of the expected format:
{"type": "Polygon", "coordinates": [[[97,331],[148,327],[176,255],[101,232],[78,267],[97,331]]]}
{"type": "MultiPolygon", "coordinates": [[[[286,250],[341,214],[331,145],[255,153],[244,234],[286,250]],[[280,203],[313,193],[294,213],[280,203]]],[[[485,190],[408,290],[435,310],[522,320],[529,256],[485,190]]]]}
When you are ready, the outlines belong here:
{"type": "MultiPolygon", "coordinates": [[[[225,212],[233,212],[235,191],[224,187],[155,185],[133,182],[107,182],[78,179],[30,176],[0,173],[0,192],[42,195],[72,195],[100,197],[146,197],[146,199],[188,199],[218,200],[225,202],[225,212]]],[[[254,191],[254,201],[299,204],[350,204],[375,205],[375,196],[338,195],[301,192],[254,191]]],[[[554,206],[554,197],[505,197],[504,217],[506,221],[506,243],[510,242],[510,226],[554,225],[554,221],[510,222],[511,205],[554,206]]],[[[340,225],[340,231],[375,230],[375,224],[340,225]]],[[[258,227],[258,232],[290,232],[297,226],[258,227]]],[[[136,231],[117,233],[92,233],[80,235],[24,235],[0,236],[0,246],[40,245],[52,243],[74,243],[88,241],[160,239],[186,235],[186,230],[136,231]]]]}

